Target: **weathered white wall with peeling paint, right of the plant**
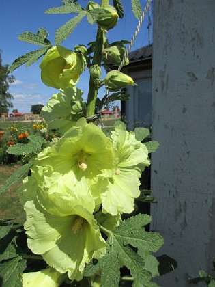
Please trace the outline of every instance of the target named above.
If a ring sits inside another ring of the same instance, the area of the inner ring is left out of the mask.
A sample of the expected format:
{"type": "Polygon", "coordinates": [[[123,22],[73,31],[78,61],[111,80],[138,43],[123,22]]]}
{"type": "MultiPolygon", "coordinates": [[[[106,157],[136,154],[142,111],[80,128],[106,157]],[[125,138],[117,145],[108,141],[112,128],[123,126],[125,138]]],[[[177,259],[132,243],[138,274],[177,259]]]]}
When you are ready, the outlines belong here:
{"type": "Polygon", "coordinates": [[[184,287],[215,257],[215,1],[154,0],[153,38],[151,228],[178,262],[158,283],[184,287]]]}

